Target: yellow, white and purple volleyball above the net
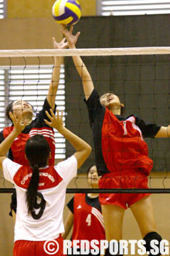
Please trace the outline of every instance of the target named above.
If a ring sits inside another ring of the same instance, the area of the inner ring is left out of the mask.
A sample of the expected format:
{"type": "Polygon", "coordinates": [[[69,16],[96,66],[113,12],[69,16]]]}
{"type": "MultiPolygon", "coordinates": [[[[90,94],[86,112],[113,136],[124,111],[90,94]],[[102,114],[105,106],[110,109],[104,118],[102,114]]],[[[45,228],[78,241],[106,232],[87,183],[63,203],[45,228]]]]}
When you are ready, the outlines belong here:
{"type": "Polygon", "coordinates": [[[77,0],[57,0],[52,13],[59,24],[74,25],[81,17],[80,3],[77,0]]]}

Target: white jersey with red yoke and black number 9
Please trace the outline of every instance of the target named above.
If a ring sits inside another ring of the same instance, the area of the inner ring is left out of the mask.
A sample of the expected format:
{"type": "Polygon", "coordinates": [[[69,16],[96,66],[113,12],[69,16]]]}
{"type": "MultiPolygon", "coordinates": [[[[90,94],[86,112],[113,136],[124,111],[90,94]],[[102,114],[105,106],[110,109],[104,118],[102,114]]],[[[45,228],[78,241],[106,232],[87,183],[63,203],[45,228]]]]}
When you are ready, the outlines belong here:
{"type": "Polygon", "coordinates": [[[26,189],[32,169],[5,158],[4,177],[14,183],[17,195],[15,240],[53,240],[64,232],[63,207],[66,186],[76,176],[77,161],[72,156],[56,166],[39,168],[39,188],[34,205],[35,213],[28,213],[26,189]]]}

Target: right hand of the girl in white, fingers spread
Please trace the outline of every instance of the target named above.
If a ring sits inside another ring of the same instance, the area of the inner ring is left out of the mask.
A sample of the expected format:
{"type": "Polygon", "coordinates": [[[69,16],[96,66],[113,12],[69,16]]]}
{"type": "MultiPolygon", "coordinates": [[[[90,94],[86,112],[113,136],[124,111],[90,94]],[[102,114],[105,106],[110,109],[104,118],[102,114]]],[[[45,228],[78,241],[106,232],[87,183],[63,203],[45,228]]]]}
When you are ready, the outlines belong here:
{"type": "Polygon", "coordinates": [[[49,121],[47,121],[46,119],[44,119],[45,123],[50,126],[55,128],[56,130],[61,130],[63,128],[63,111],[61,112],[61,115],[59,116],[59,110],[56,110],[56,116],[54,115],[53,109],[50,109],[50,114],[49,112],[46,111],[46,116],[49,118],[49,121]]]}

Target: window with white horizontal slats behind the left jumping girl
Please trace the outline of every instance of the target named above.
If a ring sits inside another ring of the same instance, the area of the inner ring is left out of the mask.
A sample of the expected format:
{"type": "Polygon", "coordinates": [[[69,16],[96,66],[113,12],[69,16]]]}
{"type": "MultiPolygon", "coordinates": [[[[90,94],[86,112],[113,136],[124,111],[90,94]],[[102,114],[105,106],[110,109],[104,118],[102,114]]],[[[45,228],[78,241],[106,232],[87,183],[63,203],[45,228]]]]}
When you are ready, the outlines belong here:
{"type": "MultiPolygon", "coordinates": [[[[0,130],[5,123],[5,108],[8,102],[15,99],[28,101],[34,107],[35,114],[42,108],[48,92],[53,67],[12,67],[12,69],[0,70],[0,130]]],[[[56,95],[56,105],[59,111],[65,112],[65,84],[64,68],[61,67],[59,88],[56,95]]],[[[66,140],[55,130],[56,159],[64,159],[66,140]]]]}

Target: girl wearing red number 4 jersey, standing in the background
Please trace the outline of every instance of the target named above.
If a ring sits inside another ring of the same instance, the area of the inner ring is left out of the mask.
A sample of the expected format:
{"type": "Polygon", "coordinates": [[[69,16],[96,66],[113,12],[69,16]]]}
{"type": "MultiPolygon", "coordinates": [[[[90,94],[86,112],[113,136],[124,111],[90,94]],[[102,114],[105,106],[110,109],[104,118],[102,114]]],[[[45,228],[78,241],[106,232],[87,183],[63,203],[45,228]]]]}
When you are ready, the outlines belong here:
{"type": "MultiPolygon", "coordinates": [[[[98,174],[95,165],[87,171],[87,182],[93,189],[98,189],[98,174]]],[[[104,218],[101,214],[99,195],[94,193],[75,194],[68,202],[70,213],[64,223],[65,239],[73,227],[71,240],[105,240],[104,218]]],[[[91,249],[92,247],[90,247],[91,249]]],[[[72,254],[74,255],[74,254],[72,254]]],[[[86,254],[93,255],[93,254],[86,254]]],[[[100,255],[97,254],[97,255],[100,255]]]]}

